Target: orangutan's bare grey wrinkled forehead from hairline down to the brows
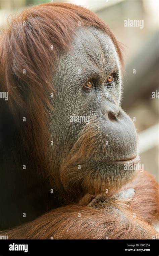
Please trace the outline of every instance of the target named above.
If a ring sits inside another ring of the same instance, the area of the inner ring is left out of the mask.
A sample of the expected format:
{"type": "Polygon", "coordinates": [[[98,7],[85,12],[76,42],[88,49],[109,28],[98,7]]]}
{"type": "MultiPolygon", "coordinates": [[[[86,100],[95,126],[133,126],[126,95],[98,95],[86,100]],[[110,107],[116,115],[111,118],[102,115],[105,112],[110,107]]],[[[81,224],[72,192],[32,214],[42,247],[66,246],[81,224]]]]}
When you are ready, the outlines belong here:
{"type": "Polygon", "coordinates": [[[55,80],[68,83],[71,79],[84,81],[98,76],[105,79],[111,73],[120,77],[120,62],[110,37],[93,27],[76,29],[70,50],[59,56],[55,63],[55,80]],[[62,74],[62,77],[61,77],[62,74]]]}

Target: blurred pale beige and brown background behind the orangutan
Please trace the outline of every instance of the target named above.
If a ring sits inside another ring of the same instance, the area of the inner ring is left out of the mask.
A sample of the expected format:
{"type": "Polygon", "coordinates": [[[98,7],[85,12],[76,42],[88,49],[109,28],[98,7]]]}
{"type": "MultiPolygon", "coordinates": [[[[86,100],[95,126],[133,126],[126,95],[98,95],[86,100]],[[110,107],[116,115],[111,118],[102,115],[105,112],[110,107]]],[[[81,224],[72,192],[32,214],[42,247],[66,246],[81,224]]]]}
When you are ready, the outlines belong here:
{"type": "Polygon", "coordinates": [[[125,73],[122,107],[133,119],[141,164],[159,181],[159,36],[158,0],[0,0],[0,30],[10,14],[46,2],[85,6],[110,27],[123,43],[125,73]],[[138,20],[139,26],[124,26],[138,20]]]}

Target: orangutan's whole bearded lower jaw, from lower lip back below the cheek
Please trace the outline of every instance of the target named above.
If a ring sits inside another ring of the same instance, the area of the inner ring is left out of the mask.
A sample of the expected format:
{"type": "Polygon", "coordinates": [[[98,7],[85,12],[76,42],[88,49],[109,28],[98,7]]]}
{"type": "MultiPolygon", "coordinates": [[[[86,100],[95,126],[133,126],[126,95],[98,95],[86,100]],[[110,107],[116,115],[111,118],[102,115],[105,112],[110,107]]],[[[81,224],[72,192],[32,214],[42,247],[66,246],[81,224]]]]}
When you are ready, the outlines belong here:
{"type": "Polygon", "coordinates": [[[99,161],[93,157],[83,161],[72,160],[62,165],[60,171],[63,187],[69,195],[75,188],[78,196],[87,193],[110,195],[136,177],[139,157],[121,161],[99,161]]]}

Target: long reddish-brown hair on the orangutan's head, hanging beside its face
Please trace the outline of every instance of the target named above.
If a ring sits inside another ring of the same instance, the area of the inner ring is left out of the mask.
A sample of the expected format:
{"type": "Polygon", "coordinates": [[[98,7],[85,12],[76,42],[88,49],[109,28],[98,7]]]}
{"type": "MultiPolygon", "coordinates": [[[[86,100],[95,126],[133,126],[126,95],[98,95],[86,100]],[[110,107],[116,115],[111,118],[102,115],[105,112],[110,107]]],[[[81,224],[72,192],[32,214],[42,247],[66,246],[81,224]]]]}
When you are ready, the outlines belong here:
{"type": "Polygon", "coordinates": [[[12,18],[9,29],[2,33],[1,91],[8,91],[9,108],[22,126],[22,143],[26,142],[30,160],[36,158],[44,170],[49,170],[47,163],[50,163],[44,152],[51,140],[47,127],[51,108],[49,93],[53,92],[51,69],[59,54],[70,48],[79,21],[81,26],[106,32],[123,65],[120,46],[108,26],[95,13],[78,5],[45,3],[25,9],[12,18]],[[23,116],[27,122],[22,122],[23,116]]]}

